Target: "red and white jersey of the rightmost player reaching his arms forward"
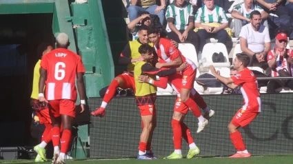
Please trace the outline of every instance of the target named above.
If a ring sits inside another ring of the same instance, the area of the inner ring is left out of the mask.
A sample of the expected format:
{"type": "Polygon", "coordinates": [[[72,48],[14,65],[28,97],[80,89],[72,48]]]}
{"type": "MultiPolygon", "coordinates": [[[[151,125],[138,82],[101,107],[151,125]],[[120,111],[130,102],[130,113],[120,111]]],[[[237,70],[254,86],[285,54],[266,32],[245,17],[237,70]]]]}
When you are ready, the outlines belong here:
{"type": "Polygon", "coordinates": [[[241,87],[244,103],[242,110],[261,112],[261,97],[254,73],[248,68],[245,68],[235,76],[232,76],[231,79],[234,81],[234,84],[241,87]]]}

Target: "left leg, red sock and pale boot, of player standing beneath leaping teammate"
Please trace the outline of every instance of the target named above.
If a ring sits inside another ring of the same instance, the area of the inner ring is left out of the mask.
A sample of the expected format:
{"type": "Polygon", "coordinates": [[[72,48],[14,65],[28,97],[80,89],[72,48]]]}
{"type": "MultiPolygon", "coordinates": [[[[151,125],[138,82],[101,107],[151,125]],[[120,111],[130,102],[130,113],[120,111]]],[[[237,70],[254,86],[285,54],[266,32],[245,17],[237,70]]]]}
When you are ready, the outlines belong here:
{"type": "MultiPolygon", "coordinates": [[[[177,102],[178,101],[176,101],[176,103],[177,102]]],[[[182,118],[183,118],[183,114],[176,111],[173,112],[171,125],[172,125],[172,131],[173,131],[174,152],[170,154],[170,156],[166,156],[164,159],[183,158],[181,153],[181,145],[182,145],[181,119],[182,118]]]]}

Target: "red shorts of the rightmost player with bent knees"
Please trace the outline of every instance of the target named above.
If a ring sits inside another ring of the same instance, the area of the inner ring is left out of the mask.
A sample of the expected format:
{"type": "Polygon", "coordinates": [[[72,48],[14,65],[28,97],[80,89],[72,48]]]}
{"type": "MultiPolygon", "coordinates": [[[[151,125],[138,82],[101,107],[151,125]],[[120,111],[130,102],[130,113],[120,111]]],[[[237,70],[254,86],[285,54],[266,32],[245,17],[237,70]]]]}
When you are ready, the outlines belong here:
{"type": "Polygon", "coordinates": [[[240,109],[234,115],[231,123],[236,127],[245,127],[254,120],[257,114],[259,113],[240,109]]]}

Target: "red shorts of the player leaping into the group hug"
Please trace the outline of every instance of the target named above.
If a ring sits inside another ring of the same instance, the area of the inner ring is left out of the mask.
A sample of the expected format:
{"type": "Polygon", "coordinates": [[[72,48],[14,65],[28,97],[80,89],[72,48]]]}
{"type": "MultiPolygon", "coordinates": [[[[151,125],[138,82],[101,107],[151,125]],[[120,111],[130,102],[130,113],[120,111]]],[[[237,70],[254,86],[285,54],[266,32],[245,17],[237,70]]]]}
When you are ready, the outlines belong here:
{"type": "Polygon", "coordinates": [[[189,89],[189,90],[194,88],[196,68],[192,69],[192,67],[189,65],[188,68],[183,70],[182,75],[183,75],[183,78],[182,78],[181,88],[189,89]]]}

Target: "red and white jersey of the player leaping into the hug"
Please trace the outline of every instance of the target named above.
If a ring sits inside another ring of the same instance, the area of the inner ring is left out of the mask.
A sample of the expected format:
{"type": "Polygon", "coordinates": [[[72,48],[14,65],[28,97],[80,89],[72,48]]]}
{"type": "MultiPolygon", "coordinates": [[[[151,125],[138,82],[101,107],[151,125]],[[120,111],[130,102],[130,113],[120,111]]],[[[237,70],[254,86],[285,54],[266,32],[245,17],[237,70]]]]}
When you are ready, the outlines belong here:
{"type": "Polygon", "coordinates": [[[192,61],[186,59],[181,52],[170,43],[169,39],[160,38],[159,46],[154,46],[154,49],[156,50],[159,59],[162,59],[166,63],[174,61],[177,57],[181,57],[183,63],[189,63],[188,68],[185,68],[185,70],[196,69],[196,65],[192,61]]]}

